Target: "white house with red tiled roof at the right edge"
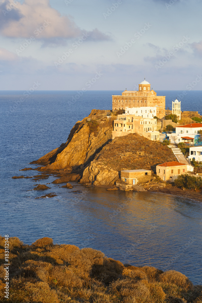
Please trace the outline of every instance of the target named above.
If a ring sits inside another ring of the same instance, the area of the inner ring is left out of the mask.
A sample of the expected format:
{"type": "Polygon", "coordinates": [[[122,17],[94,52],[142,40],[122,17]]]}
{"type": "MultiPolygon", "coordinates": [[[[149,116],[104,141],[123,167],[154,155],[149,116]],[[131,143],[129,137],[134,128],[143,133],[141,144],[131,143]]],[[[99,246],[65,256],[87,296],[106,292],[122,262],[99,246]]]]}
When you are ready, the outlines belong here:
{"type": "Polygon", "coordinates": [[[199,130],[202,130],[201,123],[191,123],[186,125],[176,126],[175,133],[167,134],[171,143],[177,144],[180,142],[185,142],[187,144],[194,144],[197,142],[200,135],[199,130]]]}

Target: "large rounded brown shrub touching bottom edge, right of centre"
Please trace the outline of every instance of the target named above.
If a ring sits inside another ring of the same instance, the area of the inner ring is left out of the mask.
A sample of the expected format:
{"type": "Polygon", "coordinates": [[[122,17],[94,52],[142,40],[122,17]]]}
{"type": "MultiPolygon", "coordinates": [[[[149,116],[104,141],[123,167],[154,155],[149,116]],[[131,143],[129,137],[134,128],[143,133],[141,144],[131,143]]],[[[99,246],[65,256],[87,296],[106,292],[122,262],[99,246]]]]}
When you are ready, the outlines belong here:
{"type": "Polygon", "coordinates": [[[111,289],[122,298],[134,296],[137,303],[150,302],[150,291],[147,286],[140,281],[132,279],[118,279],[111,283],[111,289]]]}

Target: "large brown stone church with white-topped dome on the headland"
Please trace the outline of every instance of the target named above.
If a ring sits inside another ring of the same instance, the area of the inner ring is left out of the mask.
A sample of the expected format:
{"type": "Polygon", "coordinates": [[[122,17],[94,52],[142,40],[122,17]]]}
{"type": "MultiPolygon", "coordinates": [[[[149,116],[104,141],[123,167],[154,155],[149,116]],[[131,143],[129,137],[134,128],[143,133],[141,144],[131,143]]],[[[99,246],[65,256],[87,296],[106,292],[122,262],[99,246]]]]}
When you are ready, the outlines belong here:
{"type": "Polygon", "coordinates": [[[156,92],[151,89],[151,84],[147,81],[142,81],[139,84],[138,91],[122,92],[122,95],[112,96],[112,110],[137,108],[137,107],[156,107],[156,116],[162,118],[165,116],[165,96],[157,96],[156,92]]]}

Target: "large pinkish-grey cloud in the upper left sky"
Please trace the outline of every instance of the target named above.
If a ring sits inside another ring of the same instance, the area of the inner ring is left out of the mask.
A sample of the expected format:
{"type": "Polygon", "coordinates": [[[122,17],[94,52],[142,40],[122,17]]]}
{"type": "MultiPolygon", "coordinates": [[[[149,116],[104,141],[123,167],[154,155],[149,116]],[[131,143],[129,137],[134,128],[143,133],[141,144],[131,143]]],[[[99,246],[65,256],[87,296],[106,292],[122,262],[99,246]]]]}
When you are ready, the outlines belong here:
{"type": "MultiPolygon", "coordinates": [[[[17,3],[17,0],[15,0],[17,3]]],[[[0,14],[5,15],[0,22],[0,31],[9,38],[52,39],[51,43],[61,44],[63,39],[79,37],[84,30],[79,28],[70,16],[61,14],[50,6],[49,0],[25,0],[11,9],[12,0],[0,0],[0,14]],[[6,11],[6,9],[9,12],[6,11]],[[4,14],[3,14],[4,10],[4,14]],[[6,11],[6,13],[5,13],[6,11]],[[54,40],[55,39],[55,40],[54,40]]],[[[92,40],[108,40],[109,36],[94,29],[92,40]]],[[[64,42],[62,42],[64,43],[64,42]]]]}

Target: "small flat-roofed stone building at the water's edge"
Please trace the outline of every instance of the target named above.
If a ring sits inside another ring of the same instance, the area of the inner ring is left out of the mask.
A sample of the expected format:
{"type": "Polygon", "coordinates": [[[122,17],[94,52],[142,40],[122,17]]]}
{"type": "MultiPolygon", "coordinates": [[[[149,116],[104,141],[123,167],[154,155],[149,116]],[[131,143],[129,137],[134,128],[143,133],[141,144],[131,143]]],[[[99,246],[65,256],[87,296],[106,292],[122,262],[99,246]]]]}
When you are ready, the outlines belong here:
{"type": "Polygon", "coordinates": [[[151,180],[151,171],[146,169],[122,170],[121,181],[128,185],[137,185],[138,183],[147,183],[151,180]]]}

